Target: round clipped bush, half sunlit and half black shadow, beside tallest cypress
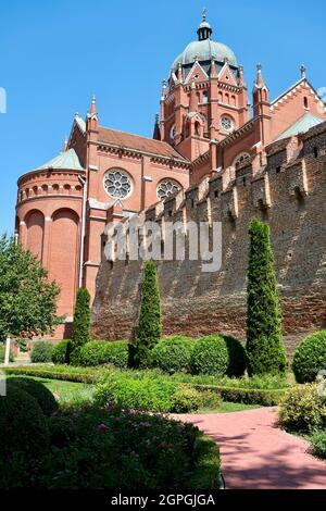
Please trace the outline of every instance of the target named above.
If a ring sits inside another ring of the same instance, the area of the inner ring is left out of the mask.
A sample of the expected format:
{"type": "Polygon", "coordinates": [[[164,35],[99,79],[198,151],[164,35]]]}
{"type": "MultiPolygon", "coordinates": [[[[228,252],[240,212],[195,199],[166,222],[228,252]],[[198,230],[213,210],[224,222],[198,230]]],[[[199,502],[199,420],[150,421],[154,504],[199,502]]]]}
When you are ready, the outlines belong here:
{"type": "Polygon", "coordinates": [[[191,373],[216,376],[242,376],[246,353],[234,337],[210,335],[198,339],[191,351],[191,373]]]}

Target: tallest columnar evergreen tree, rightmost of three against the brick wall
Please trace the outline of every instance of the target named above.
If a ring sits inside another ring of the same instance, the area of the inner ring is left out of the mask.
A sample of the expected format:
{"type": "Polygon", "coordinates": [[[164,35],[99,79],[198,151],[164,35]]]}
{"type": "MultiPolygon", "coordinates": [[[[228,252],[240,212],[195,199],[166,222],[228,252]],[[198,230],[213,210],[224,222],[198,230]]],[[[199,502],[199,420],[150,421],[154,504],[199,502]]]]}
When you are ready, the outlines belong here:
{"type": "Polygon", "coordinates": [[[248,373],[284,373],[286,350],[281,336],[281,314],[276,286],[269,227],[252,219],[247,289],[248,373]]]}

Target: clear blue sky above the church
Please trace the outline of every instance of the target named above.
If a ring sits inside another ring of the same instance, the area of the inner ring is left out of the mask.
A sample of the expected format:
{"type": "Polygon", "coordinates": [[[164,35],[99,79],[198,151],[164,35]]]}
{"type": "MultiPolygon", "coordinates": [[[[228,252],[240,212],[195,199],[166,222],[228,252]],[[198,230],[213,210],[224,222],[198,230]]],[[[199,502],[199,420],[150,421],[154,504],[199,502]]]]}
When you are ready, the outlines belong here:
{"type": "Polygon", "coordinates": [[[101,124],[152,136],[161,80],[197,38],[202,8],[213,39],[255,65],[272,97],[299,79],[303,62],[326,86],[325,0],[11,0],[0,8],[0,234],[12,232],[17,177],[50,160],[97,95],[101,124]]]}

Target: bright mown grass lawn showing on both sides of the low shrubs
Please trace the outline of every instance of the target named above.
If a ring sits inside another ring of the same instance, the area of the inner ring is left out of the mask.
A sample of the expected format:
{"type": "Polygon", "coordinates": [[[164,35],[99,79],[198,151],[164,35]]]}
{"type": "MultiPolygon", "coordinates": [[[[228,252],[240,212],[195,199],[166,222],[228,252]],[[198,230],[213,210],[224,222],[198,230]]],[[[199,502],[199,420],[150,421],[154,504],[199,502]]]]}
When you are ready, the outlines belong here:
{"type": "MultiPolygon", "coordinates": [[[[9,376],[10,377],[10,376],[9,376]]],[[[64,382],[60,379],[26,376],[42,383],[55,396],[60,403],[91,401],[95,385],[64,382]]],[[[222,401],[215,409],[202,408],[197,413],[231,413],[260,408],[258,404],[243,404],[222,401]]]]}

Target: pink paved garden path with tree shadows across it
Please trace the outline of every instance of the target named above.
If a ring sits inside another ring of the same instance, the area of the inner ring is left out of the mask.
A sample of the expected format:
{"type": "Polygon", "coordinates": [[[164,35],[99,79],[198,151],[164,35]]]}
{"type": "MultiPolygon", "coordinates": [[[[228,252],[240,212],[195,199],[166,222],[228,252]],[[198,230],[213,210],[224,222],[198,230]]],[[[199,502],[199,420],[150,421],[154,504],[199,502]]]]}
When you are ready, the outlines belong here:
{"type": "Polygon", "coordinates": [[[276,409],[178,415],[216,439],[227,489],[325,489],[326,462],[276,426],[276,409]]]}

